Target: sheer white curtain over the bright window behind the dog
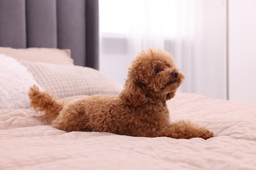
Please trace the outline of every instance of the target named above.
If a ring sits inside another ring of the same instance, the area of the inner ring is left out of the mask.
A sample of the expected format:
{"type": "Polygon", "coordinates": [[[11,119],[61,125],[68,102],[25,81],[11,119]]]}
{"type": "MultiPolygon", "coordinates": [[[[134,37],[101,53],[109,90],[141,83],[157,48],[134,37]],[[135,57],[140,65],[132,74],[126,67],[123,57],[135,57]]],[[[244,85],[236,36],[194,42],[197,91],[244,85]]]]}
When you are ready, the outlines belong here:
{"type": "Polygon", "coordinates": [[[140,50],[161,48],[186,75],[181,92],[226,98],[226,1],[99,2],[100,71],[123,84],[140,50]]]}

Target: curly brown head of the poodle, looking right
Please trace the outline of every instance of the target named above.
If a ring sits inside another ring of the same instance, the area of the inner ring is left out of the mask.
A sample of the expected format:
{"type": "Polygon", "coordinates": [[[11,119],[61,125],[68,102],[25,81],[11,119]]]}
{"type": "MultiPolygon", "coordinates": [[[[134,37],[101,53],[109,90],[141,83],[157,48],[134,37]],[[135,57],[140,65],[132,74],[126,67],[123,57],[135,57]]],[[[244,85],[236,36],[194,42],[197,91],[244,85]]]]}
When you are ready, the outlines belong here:
{"type": "Polygon", "coordinates": [[[177,69],[171,54],[163,50],[143,50],[129,68],[120,97],[133,106],[156,99],[166,101],[174,97],[183,80],[184,75],[177,69]]]}

